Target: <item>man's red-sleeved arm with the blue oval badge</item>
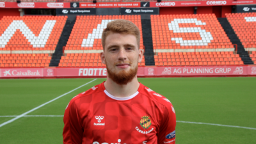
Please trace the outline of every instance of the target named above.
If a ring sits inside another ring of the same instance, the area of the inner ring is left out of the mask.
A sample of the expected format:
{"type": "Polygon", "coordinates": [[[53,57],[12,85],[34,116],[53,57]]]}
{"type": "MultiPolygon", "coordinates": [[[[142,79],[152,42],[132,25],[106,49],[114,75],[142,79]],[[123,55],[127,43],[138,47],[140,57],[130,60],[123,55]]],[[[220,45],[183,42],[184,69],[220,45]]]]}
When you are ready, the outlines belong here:
{"type": "Polygon", "coordinates": [[[163,120],[161,120],[160,131],[157,135],[157,143],[175,144],[175,127],[175,111],[172,104],[168,104],[164,110],[163,120]]]}

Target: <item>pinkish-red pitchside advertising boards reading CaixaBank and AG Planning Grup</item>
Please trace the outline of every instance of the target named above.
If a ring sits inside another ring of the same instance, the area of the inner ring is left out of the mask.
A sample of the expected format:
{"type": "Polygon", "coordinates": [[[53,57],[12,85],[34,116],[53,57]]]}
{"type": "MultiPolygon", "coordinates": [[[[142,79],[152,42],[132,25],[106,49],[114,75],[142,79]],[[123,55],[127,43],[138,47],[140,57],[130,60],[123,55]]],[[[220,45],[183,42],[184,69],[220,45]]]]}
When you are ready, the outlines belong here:
{"type": "MultiPolygon", "coordinates": [[[[139,67],[138,77],[256,76],[256,65],[139,67]]],[[[106,67],[0,68],[0,78],[106,77],[106,67]]]]}

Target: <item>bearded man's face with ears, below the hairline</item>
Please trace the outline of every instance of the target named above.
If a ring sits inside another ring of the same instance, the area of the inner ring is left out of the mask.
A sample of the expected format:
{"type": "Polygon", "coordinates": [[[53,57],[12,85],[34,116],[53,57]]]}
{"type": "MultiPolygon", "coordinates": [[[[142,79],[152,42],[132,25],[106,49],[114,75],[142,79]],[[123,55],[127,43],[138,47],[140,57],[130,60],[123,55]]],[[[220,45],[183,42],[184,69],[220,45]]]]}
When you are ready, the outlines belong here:
{"type": "Polygon", "coordinates": [[[106,37],[104,52],[100,56],[107,66],[109,78],[118,84],[127,84],[137,74],[142,51],[138,49],[136,36],[111,33],[106,37]]]}

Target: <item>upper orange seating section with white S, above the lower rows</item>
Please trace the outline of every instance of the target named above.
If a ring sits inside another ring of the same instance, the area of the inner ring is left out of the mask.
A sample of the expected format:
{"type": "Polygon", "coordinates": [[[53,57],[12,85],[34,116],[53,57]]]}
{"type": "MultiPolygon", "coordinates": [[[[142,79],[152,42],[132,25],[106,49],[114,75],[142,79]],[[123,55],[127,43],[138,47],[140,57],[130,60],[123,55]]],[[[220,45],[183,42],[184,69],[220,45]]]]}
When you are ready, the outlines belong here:
{"type": "Polygon", "coordinates": [[[234,51],[214,14],[151,15],[155,52],[234,51]]]}

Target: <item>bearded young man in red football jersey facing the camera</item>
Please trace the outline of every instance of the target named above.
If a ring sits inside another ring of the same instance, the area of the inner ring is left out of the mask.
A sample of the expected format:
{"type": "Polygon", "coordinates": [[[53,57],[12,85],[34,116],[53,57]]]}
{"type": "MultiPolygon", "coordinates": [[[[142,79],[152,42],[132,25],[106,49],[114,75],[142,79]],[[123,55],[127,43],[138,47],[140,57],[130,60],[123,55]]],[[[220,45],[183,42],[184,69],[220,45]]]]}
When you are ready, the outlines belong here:
{"type": "Polygon", "coordinates": [[[107,80],[80,93],[64,115],[63,143],[175,143],[171,102],[138,82],[140,30],[113,20],[102,33],[107,80]]]}

